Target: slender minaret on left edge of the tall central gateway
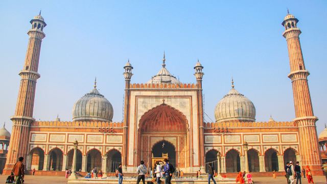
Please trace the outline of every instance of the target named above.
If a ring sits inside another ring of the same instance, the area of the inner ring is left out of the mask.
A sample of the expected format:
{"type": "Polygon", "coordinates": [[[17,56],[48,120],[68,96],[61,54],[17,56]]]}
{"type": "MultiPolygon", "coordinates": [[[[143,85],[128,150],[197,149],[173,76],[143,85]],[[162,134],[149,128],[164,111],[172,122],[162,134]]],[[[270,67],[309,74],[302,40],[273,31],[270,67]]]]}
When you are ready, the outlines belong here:
{"type": "Polygon", "coordinates": [[[130,96],[130,90],[129,85],[131,83],[132,78],[132,69],[133,66],[129,62],[129,59],[124,66],[125,72],[125,104],[124,104],[124,131],[123,131],[123,154],[122,154],[122,165],[123,165],[123,172],[127,171],[127,143],[128,143],[128,124],[129,124],[129,96],[130,96]]]}

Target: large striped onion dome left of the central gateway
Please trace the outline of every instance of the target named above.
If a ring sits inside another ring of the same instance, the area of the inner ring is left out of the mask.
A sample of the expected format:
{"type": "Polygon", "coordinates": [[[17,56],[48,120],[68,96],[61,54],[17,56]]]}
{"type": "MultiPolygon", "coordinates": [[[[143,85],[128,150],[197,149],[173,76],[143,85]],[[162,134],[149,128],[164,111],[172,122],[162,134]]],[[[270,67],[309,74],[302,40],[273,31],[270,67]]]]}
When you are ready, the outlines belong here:
{"type": "Polygon", "coordinates": [[[73,108],[73,121],[108,121],[113,117],[111,103],[99,93],[97,79],[94,89],[79,99],[73,108]]]}

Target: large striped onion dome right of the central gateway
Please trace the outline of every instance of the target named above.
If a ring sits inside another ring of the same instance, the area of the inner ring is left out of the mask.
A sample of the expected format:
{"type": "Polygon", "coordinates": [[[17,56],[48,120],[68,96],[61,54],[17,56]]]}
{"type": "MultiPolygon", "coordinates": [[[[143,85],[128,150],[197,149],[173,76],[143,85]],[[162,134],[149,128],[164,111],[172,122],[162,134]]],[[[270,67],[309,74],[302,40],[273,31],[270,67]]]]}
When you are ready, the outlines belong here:
{"type": "Polygon", "coordinates": [[[222,98],[215,109],[216,122],[226,121],[255,121],[255,107],[253,103],[234,88],[231,80],[231,89],[222,98]]]}

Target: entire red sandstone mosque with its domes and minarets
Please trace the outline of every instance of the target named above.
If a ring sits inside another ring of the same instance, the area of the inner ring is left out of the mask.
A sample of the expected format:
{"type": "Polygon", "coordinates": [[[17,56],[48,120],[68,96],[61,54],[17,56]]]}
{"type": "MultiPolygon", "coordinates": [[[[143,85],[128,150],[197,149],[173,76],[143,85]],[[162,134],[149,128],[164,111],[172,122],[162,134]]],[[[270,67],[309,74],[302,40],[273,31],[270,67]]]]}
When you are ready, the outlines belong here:
{"type": "MultiPolygon", "coordinates": [[[[180,82],[170,74],[166,58],[159,72],[145,83],[131,83],[132,64],[124,68],[124,120],[112,122],[113,107],[99,93],[97,83],[73,106],[73,120],[33,119],[38,63],[43,32],[41,15],[31,21],[29,42],[21,77],[10,146],[4,173],[10,173],[19,156],[26,169],[61,172],[72,168],[73,143],[78,141],[77,170],[97,167],[109,174],[119,163],[125,173],[135,173],[140,160],[152,167],[154,158],[168,154],[185,174],[206,171],[213,163],[220,173],[238,171],[284,172],[286,162],[299,161],[321,172],[321,144],[316,131],[307,77],[299,42],[298,19],[287,14],[285,31],[293,87],[295,117],[292,121],[255,121],[254,104],[233,84],[217,103],[215,122],[203,120],[203,66],[194,66],[195,83],[180,82]]],[[[1,135],[0,135],[1,138],[1,135]]],[[[8,138],[8,136],[7,136],[8,138]]]]}

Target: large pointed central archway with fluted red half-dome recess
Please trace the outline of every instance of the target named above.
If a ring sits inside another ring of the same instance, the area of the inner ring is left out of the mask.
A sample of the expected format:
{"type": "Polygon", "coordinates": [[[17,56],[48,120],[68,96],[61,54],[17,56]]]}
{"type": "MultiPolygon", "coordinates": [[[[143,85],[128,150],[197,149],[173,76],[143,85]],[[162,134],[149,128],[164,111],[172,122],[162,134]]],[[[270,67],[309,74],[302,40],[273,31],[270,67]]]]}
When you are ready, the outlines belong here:
{"type": "Polygon", "coordinates": [[[168,153],[170,163],[174,167],[187,167],[186,158],[190,157],[186,151],[189,150],[189,143],[186,142],[188,127],[188,120],[184,114],[165,103],[145,112],[139,120],[137,129],[136,160],[144,160],[151,170],[152,154],[154,157],[162,157],[162,153],[168,153]]]}

